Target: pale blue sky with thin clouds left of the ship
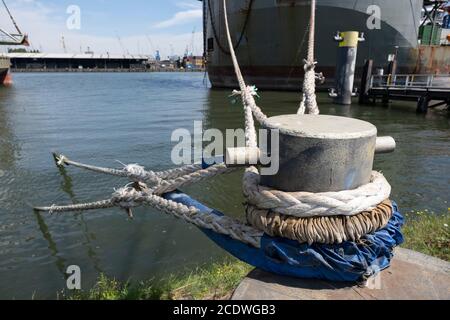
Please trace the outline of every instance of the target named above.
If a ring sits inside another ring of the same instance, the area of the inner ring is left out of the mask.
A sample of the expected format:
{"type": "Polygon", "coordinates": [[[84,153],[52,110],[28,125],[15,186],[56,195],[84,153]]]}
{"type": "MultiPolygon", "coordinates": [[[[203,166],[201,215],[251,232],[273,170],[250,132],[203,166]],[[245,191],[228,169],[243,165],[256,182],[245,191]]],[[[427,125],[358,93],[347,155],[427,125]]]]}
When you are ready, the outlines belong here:
{"type": "MultiPolygon", "coordinates": [[[[201,54],[202,3],[197,0],[7,0],[17,23],[28,33],[33,48],[45,52],[79,52],[88,46],[95,52],[182,54],[191,46],[201,54]],[[71,5],[80,8],[81,28],[66,26],[71,5]],[[121,38],[123,47],[118,37],[121,38]],[[150,41],[148,40],[150,39],[150,41]]],[[[0,27],[13,31],[3,8],[0,27]]],[[[190,48],[192,51],[192,48],[190,48]]]]}

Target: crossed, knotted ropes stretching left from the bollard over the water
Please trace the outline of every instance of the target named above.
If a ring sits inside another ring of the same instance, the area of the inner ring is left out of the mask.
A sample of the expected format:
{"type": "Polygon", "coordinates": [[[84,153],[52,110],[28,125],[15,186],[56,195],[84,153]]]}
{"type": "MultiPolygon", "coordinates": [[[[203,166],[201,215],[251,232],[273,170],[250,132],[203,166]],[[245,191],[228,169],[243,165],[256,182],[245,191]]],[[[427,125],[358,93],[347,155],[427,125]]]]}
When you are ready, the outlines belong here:
{"type": "MultiPolygon", "coordinates": [[[[121,207],[130,209],[140,205],[150,205],[158,210],[169,213],[177,218],[183,219],[188,223],[192,223],[198,227],[213,230],[214,232],[228,235],[235,240],[243,243],[259,247],[259,240],[262,232],[247,226],[239,220],[229,217],[218,216],[212,213],[200,212],[196,208],[189,208],[183,204],[166,200],[160,195],[177,190],[180,187],[190,185],[201,180],[211,178],[220,174],[229,173],[238,170],[238,168],[228,168],[225,164],[216,164],[206,169],[197,169],[196,166],[186,166],[179,169],[168,170],[165,172],[148,172],[138,165],[128,165],[124,170],[116,170],[110,168],[102,168],[86,165],[76,161],[69,160],[65,156],[55,156],[58,165],[73,165],[78,168],[115,176],[128,177],[132,181],[136,179],[139,182],[148,181],[148,177],[174,177],[172,180],[159,179],[158,184],[153,189],[138,191],[131,187],[125,187],[117,190],[111,199],[97,201],[92,203],[74,204],[67,206],[37,207],[35,210],[47,211],[50,213],[86,211],[94,209],[106,209],[112,207],[121,207]],[[193,171],[193,172],[191,172],[193,171]],[[188,172],[188,174],[184,174],[188,172]],[[150,173],[150,174],[149,174],[150,173]]],[[[153,179],[152,182],[155,182],[153,179]]],[[[145,188],[144,188],[145,189],[145,188]]]]}

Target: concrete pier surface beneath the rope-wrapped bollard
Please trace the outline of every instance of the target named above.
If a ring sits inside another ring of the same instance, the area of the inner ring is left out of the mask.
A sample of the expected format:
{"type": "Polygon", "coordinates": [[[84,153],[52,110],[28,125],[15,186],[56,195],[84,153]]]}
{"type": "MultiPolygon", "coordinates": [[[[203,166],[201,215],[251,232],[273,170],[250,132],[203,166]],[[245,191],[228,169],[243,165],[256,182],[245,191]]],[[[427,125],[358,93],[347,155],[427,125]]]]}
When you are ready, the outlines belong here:
{"type": "Polygon", "coordinates": [[[232,300],[450,300],[450,263],[398,248],[390,268],[366,287],[252,271],[232,300]]]}

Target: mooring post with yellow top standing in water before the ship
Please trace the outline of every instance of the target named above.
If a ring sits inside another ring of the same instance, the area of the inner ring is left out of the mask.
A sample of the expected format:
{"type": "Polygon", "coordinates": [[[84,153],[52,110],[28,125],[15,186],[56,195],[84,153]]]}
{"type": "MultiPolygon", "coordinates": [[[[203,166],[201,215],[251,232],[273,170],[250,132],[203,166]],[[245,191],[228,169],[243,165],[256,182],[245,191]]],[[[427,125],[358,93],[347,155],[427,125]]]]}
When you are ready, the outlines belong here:
{"type": "Polygon", "coordinates": [[[336,65],[335,93],[330,95],[334,102],[348,105],[352,103],[353,84],[355,81],[356,57],[358,42],[364,41],[364,34],[357,31],[338,32],[334,37],[339,42],[336,65]]]}

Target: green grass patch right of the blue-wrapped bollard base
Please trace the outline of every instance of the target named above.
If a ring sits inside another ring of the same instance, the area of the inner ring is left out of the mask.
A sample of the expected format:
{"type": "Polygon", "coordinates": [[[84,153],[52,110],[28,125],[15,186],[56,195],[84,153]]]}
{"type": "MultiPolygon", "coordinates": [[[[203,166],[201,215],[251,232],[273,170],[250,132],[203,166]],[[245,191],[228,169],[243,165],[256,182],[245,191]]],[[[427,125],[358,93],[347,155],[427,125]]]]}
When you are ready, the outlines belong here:
{"type": "Polygon", "coordinates": [[[450,261],[450,208],[444,215],[421,211],[405,217],[403,248],[450,261]]]}

